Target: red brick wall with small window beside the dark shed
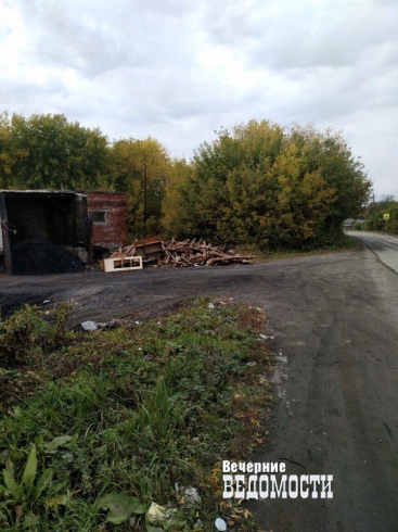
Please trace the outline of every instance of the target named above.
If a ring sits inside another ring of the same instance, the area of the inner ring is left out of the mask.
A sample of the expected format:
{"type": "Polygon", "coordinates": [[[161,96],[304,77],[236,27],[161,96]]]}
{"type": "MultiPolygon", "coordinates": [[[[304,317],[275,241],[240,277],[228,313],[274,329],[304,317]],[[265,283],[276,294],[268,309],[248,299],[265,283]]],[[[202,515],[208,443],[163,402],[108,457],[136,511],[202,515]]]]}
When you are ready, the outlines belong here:
{"type": "Polygon", "coordinates": [[[126,197],[123,192],[88,192],[87,206],[90,213],[104,212],[104,223],[92,224],[92,243],[117,248],[126,243],[126,197]]]}

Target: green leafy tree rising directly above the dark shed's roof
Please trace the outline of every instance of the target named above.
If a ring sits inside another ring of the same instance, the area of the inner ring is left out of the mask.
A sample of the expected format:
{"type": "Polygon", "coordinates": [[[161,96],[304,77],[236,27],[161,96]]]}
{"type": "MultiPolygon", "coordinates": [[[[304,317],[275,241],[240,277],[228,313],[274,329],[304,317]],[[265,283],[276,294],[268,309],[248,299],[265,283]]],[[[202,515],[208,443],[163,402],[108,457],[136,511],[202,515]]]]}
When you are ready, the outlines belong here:
{"type": "Polygon", "coordinates": [[[107,139],[99,129],[69,123],[62,114],[14,114],[12,145],[26,156],[13,167],[21,189],[107,188],[107,139]]]}

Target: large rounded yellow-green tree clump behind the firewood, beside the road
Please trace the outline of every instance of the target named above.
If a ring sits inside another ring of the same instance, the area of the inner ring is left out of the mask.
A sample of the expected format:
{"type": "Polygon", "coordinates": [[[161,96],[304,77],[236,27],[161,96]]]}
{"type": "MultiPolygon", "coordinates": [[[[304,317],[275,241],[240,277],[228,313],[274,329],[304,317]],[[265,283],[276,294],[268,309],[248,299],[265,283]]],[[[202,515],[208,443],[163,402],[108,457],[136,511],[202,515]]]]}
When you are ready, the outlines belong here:
{"type": "Polygon", "coordinates": [[[342,235],[370,189],[341,134],[251,121],[221,129],[167,189],[164,223],[180,236],[313,246],[342,235]]]}

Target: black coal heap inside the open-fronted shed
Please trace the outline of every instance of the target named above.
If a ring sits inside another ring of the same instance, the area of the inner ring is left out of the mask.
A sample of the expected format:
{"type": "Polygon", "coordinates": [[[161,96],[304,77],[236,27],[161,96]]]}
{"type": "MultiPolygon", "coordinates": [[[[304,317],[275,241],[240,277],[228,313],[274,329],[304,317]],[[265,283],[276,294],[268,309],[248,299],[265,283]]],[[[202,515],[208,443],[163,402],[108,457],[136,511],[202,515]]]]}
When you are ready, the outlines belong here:
{"type": "Polygon", "coordinates": [[[86,271],[84,263],[62,245],[50,240],[22,240],[11,250],[15,275],[74,274],[86,271]]]}

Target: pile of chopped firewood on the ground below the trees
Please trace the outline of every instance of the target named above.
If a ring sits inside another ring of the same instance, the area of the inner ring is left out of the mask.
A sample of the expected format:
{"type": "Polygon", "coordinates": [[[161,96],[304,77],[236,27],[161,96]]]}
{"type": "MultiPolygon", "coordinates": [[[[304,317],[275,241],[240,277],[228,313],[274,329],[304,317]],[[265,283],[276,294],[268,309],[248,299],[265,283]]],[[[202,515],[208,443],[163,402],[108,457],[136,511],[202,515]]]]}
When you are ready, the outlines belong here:
{"type": "MultiPolygon", "coordinates": [[[[217,264],[252,264],[255,256],[235,255],[232,250],[226,246],[213,246],[204,240],[196,239],[176,241],[172,238],[169,242],[162,242],[163,251],[152,261],[159,266],[214,266],[217,264]]],[[[134,244],[124,249],[127,256],[136,255],[134,244]]]]}

